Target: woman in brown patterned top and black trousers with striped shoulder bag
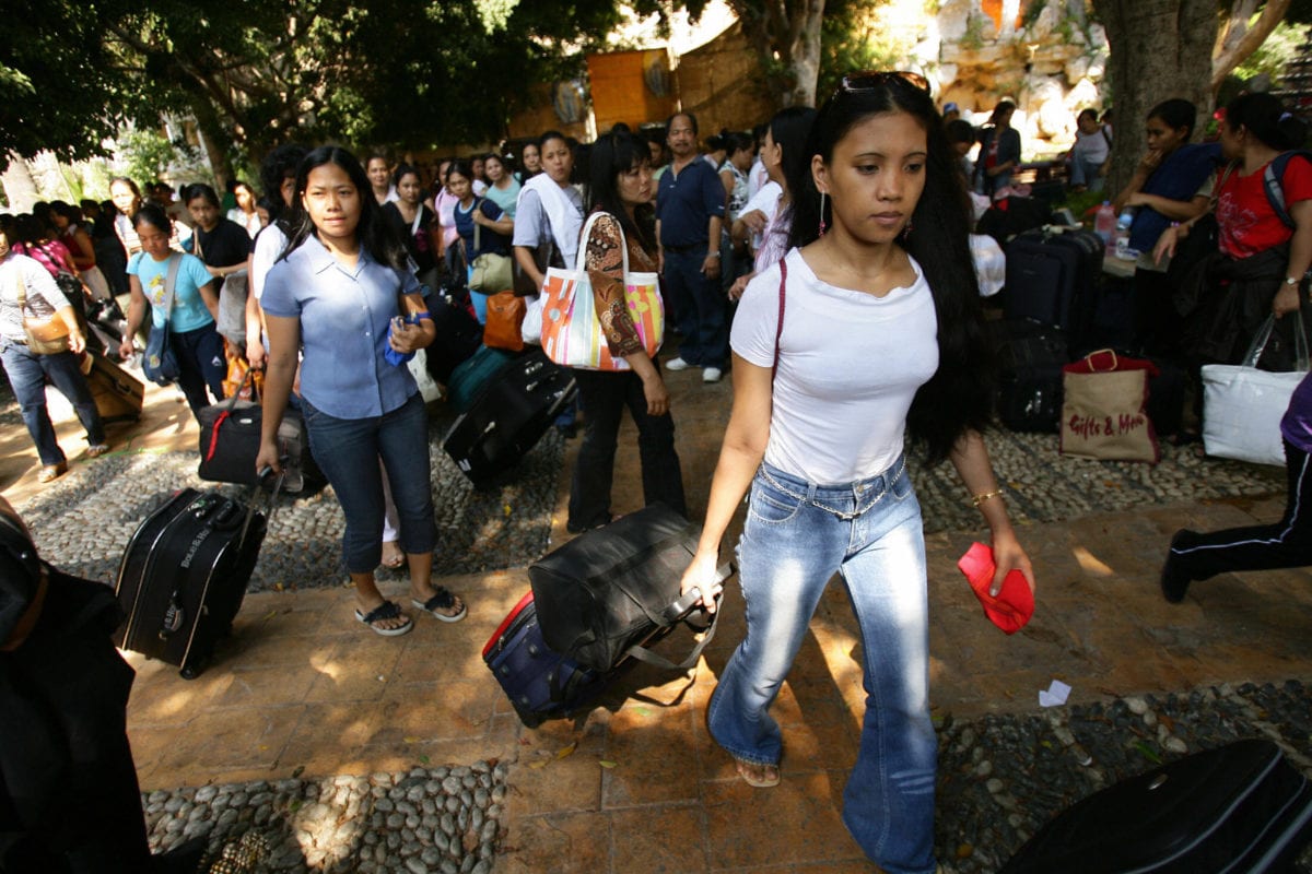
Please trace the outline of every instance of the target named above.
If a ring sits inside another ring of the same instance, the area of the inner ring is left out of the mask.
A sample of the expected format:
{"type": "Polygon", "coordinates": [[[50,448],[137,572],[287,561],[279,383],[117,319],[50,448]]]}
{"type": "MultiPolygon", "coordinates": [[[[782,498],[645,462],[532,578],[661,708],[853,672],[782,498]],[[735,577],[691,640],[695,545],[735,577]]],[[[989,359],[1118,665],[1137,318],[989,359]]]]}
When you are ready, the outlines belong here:
{"type": "Polygon", "coordinates": [[[596,220],[586,240],[584,267],[602,335],[613,359],[627,371],[575,370],[583,409],[588,410],[583,446],[569,486],[571,532],[610,522],[615,442],[625,408],[638,426],[646,506],[664,503],[686,515],[684,476],[674,451],[674,419],[659,363],[647,354],[625,297],[623,249],[635,271],[656,271],[655,241],[642,228],[639,211],[651,204],[651,152],[632,134],[601,138],[592,148],[588,203],[596,220]]]}

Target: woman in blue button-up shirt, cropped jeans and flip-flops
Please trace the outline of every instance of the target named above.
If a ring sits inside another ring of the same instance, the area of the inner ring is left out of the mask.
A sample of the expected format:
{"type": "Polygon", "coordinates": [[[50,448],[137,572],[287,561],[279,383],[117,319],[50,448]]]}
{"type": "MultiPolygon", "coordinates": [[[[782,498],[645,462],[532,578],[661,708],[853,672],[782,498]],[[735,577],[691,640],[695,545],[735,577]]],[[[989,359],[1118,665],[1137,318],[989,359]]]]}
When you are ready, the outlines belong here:
{"type": "Polygon", "coordinates": [[[458,621],[464,604],[430,579],[437,531],[424,400],[409,370],[388,360],[388,352],[395,359],[433,342],[421,287],[349,152],[331,145],[310,152],[297,169],[295,191],[287,250],[269,270],[260,300],[269,364],[256,468],[281,469],[278,423],[300,350],[300,408],[310,449],[346,516],[342,553],[356,584],[356,618],[386,637],[413,628],[374,580],[382,557],[380,457],[400,516],[411,603],[458,621]]]}

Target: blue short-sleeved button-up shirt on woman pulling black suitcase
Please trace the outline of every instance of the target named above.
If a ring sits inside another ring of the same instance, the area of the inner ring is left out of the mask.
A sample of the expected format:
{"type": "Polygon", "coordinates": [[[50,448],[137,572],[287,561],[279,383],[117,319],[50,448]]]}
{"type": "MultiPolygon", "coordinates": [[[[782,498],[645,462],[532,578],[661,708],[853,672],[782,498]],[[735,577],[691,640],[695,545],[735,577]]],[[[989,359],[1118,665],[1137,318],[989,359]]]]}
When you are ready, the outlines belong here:
{"type": "Polygon", "coordinates": [[[419,291],[409,271],[383,266],[363,249],[346,267],[311,236],[269,270],[260,305],[300,320],[302,396],[335,418],[363,419],[391,413],[419,390],[408,368],[383,358],[399,295],[419,291]]]}

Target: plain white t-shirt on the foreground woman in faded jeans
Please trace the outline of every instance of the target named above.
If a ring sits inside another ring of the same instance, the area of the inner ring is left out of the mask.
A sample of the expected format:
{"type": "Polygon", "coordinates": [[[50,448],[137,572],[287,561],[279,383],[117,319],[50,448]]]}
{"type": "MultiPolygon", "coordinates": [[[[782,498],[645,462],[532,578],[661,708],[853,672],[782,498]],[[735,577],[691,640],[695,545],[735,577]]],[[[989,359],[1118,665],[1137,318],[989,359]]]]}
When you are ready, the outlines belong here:
{"type": "MultiPolygon", "coordinates": [[[[938,370],[938,322],[929,283],[883,297],[820,282],[798,249],[789,266],[779,370],[765,460],[819,485],[888,469],[903,451],[907,411],[938,370]]],[[[774,364],[779,267],[748,283],[729,345],[748,363],[774,364]]]]}

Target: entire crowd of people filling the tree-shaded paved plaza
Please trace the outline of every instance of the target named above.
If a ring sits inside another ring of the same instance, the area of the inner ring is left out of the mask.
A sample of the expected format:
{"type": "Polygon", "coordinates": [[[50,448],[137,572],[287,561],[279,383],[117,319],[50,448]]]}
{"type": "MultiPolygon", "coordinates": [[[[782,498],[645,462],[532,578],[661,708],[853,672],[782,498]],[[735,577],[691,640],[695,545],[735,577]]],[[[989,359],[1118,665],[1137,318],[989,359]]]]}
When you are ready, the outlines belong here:
{"type": "MultiPolygon", "coordinates": [[[[1035,586],[980,436],[992,417],[991,350],[968,246],[970,191],[1008,187],[1019,164],[1014,110],[1004,101],[981,134],[967,132],[951,111],[939,113],[920,76],[859,73],[819,110],[785,109],[752,132],[703,138],[687,111],[659,132],[617,126],[586,145],[547,131],[518,155],[442,160],[434,180],[388,149],[356,156],[331,145],[274,149],[261,166],[264,197],[235,183],[231,204],[207,185],[185,186],[178,202],[156,186],[144,200],[131,180],[115,178],[105,204],[42,204],[0,218],[5,371],[46,481],[67,469],[45,413],[46,377],[73,401],[88,453],[106,449],[79,385],[87,341],[72,299],[113,294],[123,287],[117,274],[130,294],[118,351],[136,350],[147,318],[151,330],[168,328],[193,410],[222,397],[234,355],[265,368],[257,466],[279,468],[278,423],[297,409],[345,515],[342,565],[356,617],[398,636],[415,620],[379,591],[380,563],[408,566],[420,613],[458,621],[467,612],[430,578],[426,411],[398,363],[442,342],[432,295],[468,291],[480,258],[513,259],[514,284],[530,296],[548,269],[583,263],[604,341],[627,368],[576,372],[584,438],[567,527],[611,520],[626,409],[646,502],[687,515],[663,371],[698,368],[699,383],[729,375],[732,411],[682,579],[685,592],[698,590],[715,609],[722,539],[745,498],[737,556],[747,632],[708,704],[710,731],[749,785],[779,782],[782,734],[770,708],[837,574],[865,641],[867,693],[844,822],[886,870],[929,874],[928,570],[908,439],[921,448],[916,457],[951,461],[980,510],[996,561],[991,594],[1013,571],[1035,586]],[[118,259],[102,254],[106,238],[118,259]],[[664,360],[644,347],[626,304],[626,263],[661,276],[664,360]],[[244,346],[230,338],[226,349],[220,304],[234,287],[244,294],[244,346]],[[26,349],[29,313],[63,324],[67,351],[26,349]]],[[[1169,351],[1193,337],[1199,317],[1224,321],[1224,349],[1212,359],[1231,360],[1266,314],[1298,318],[1305,303],[1312,164],[1287,164],[1282,216],[1263,169],[1302,143],[1302,123],[1274,98],[1245,96],[1227,107],[1211,147],[1190,143],[1194,115],[1179,100],[1153,107],[1145,156],[1115,200],[1138,210],[1131,238],[1145,253],[1135,274],[1143,341],[1169,351]],[[1199,235],[1208,214],[1219,244],[1191,265],[1199,290],[1182,311],[1162,261],[1183,257],[1186,235],[1199,235]]],[[[1073,178],[1094,189],[1113,139],[1092,110],[1081,113],[1080,131],[1073,178]]],[[[1215,329],[1204,333],[1216,339],[1215,329]]],[[[1281,337],[1277,358],[1290,345],[1284,329],[1281,337]]],[[[1286,425],[1286,519],[1258,533],[1177,535],[1162,575],[1168,599],[1221,570],[1312,561],[1300,511],[1312,451],[1307,380],[1286,425]]]]}

